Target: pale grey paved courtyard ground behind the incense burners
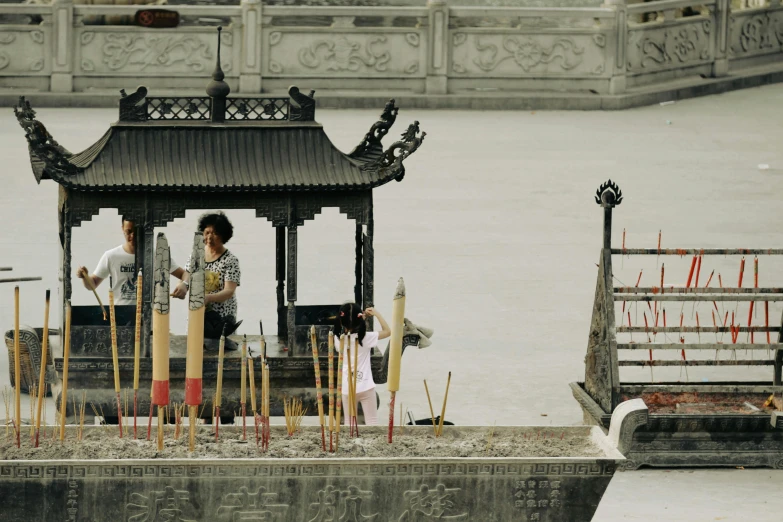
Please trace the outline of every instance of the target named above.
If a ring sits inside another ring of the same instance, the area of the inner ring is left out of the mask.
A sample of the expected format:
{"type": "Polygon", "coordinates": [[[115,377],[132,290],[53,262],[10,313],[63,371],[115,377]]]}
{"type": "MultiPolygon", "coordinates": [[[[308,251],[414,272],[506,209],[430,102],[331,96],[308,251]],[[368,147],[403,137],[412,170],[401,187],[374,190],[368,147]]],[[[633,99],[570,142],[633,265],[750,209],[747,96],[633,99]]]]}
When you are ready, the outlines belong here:
{"type": "MultiPolygon", "coordinates": [[[[402,107],[387,144],[413,120],[420,121],[427,139],[406,160],[402,183],[374,191],[375,302],[389,318],[394,287],[404,277],[406,315],[434,328],[435,336],[431,347],[406,351],[397,404],[425,417],[422,379],[439,403],[452,371],[447,416],[457,425],[580,423],[568,382],[584,377],[602,240],[596,188],[607,178],[622,188],[625,199],[614,212],[615,245],[625,228],[629,247],[655,247],[662,230],[662,246],[669,248],[780,248],[781,106],[783,85],[622,112],[402,107]],[[760,170],[759,164],[770,168],[760,170]]],[[[317,110],[316,119],[348,151],[381,109],[317,110]]],[[[72,151],[94,143],[117,120],[112,109],[41,109],[38,115],[72,151]]],[[[10,109],[0,115],[0,150],[0,266],[15,268],[4,277],[43,276],[40,283],[25,283],[21,295],[22,322],[40,325],[44,291],[51,288],[54,297],[58,288],[57,187],[51,181],[36,185],[10,109]]],[[[181,263],[199,213],[160,229],[181,263]]],[[[229,217],[235,234],[228,247],[242,264],[238,299],[245,322],[239,333],[255,334],[258,318],[268,329],[275,323],[274,231],[251,211],[230,211],[229,217]]],[[[333,209],[300,228],[299,303],[351,298],[353,237],[353,223],[333,209]]],[[[104,210],[75,230],[74,262],[93,269],[103,251],[121,241],[116,211],[104,210]]],[[[713,268],[725,281],[737,277],[738,259],[709,261],[716,266],[703,266],[702,277],[713,268]]],[[[642,284],[652,286],[661,262],[667,281],[684,284],[688,259],[617,259],[615,275],[620,284],[633,284],[643,268],[642,284]]],[[[759,270],[761,285],[783,286],[779,260],[761,257],[759,270]]],[[[74,304],[93,302],[91,293],[74,284],[74,304]]],[[[635,325],[643,321],[642,310],[638,317],[636,312],[635,325]]],[[[686,324],[693,324],[690,312],[689,307],[686,324]]],[[[702,321],[711,322],[706,314],[702,321]]],[[[780,315],[780,308],[770,310],[771,318],[780,315]]],[[[175,333],[185,332],[186,317],[186,305],[174,303],[175,333]]],[[[13,288],[3,285],[0,327],[11,328],[12,321],[13,288]]],[[[58,321],[59,309],[52,307],[52,324],[58,321]]],[[[0,386],[8,383],[7,361],[0,354],[0,386]]],[[[651,378],[649,369],[636,368],[624,369],[622,376],[651,378]]],[[[679,368],[656,368],[654,377],[685,379],[679,368]]],[[[768,381],[771,370],[689,370],[695,382],[738,377],[768,381]]],[[[383,419],[388,392],[383,386],[379,392],[383,419]]],[[[28,411],[24,404],[22,411],[28,411]]],[[[52,416],[54,408],[48,412],[52,416]]],[[[595,520],[745,521],[752,506],[754,520],[776,521],[781,488],[783,473],[769,470],[620,473],[595,520]]]]}

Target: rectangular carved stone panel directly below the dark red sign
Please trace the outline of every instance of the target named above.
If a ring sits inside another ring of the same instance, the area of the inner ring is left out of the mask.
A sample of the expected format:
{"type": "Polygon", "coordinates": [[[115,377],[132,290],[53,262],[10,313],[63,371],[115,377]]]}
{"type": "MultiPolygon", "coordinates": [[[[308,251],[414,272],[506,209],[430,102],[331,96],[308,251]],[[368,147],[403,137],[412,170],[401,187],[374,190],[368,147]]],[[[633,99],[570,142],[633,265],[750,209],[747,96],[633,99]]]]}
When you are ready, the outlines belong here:
{"type": "MultiPolygon", "coordinates": [[[[221,35],[221,67],[236,76],[234,38],[221,35]]],[[[209,32],[172,30],[107,31],[87,28],[76,35],[76,70],[84,75],[208,76],[215,68],[217,42],[209,32]]]]}

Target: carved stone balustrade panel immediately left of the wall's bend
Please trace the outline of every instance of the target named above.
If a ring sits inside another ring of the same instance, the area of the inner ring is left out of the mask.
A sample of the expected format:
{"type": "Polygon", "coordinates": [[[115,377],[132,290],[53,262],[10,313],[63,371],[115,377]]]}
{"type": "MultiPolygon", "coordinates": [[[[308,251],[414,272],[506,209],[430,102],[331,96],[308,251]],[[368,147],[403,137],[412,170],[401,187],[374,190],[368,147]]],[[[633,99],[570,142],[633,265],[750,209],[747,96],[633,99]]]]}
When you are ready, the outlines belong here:
{"type": "Polygon", "coordinates": [[[608,73],[606,35],[452,31],[451,76],[598,77],[608,73]]]}

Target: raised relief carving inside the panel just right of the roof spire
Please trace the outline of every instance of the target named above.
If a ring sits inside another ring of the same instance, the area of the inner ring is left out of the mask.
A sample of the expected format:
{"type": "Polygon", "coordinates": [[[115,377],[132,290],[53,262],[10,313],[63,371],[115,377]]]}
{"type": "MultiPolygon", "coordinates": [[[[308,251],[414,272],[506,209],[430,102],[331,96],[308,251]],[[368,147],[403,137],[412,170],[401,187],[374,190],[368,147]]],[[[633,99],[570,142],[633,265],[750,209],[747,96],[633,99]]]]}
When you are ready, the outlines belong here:
{"type": "Polygon", "coordinates": [[[318,40],[299,50],[299,63],[308,69],[324,67],[327,71],[357,72],[362,68],[386,71],[391,54],[379,47],[385,36],[369,38],[366,43],[339,36],[334,40],[318,40]]]}

